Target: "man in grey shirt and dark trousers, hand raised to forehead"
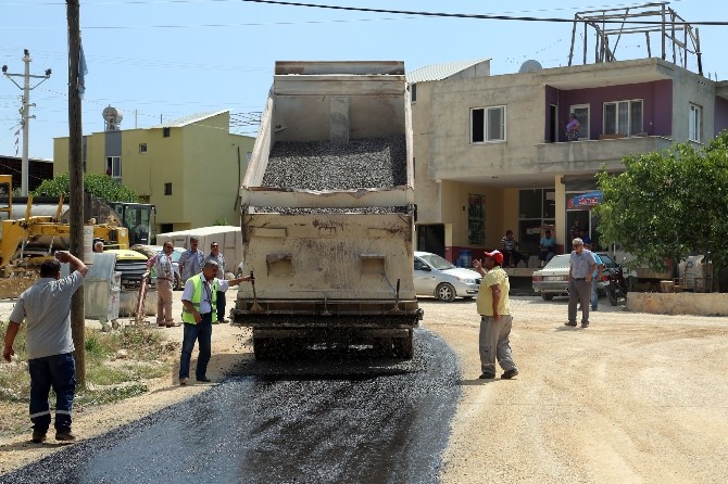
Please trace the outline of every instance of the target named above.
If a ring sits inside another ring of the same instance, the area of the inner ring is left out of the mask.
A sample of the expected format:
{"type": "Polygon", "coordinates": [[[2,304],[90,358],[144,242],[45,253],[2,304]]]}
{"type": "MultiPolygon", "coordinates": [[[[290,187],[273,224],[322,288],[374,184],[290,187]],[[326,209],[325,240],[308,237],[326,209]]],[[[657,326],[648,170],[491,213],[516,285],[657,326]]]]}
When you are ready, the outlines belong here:
{"type": "Polygon", "coordinates": [[[84,283],[86,265],[68,252],[57,252],[55,259],[40,266],[40,278],[20,295],[5,332],[2,357],[10,361],[13,343],[23,320],[27,322],[26,351],[30,372],[30,421],[33,442],[46,440],[51,423],[48,395],[55,392],[55,440],[72,442],[71,410],[76,390],[76,360],[71,335],[71,296],[84,283]],[[61,279],[61,264],[74,272],[61,279]]]}

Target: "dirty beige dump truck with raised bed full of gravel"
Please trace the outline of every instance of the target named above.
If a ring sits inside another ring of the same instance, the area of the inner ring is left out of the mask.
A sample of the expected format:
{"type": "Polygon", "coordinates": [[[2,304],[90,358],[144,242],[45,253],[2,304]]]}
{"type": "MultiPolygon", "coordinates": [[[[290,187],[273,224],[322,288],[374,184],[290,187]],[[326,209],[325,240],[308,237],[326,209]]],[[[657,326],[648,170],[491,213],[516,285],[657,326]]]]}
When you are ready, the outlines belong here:
{"type": "Polygon", "coordinates": [[[256,358],[359,347],[413,356],[410,99],[402,62],[277,62],[240,189],[233,323],[256,358]]]}

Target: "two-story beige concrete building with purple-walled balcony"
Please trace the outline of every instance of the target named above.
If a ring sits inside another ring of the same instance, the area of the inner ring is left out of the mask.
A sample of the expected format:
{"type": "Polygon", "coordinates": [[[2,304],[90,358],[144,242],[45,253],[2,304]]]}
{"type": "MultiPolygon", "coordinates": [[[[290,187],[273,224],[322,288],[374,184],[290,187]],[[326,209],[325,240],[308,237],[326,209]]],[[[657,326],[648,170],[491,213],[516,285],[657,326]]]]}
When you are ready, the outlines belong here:
{"type": "MultiPolygon", "coordinates": [[[[728,128],[728,82],[656,58],[490,75],[489,60],[440,64],[407,75],[415,149],[417,249],[457,262],[500,249],[514,231],[538,254],[552,226],[570,250],[576,219],[599,244],[589,207],[574,196],[594,175],[624,170],[628,154],[710,141],[728,128]],[[569,113],[579,137],[567,141],[569,113]]],[[[532,259],[531,259],[532,260],[532,259]]]]}

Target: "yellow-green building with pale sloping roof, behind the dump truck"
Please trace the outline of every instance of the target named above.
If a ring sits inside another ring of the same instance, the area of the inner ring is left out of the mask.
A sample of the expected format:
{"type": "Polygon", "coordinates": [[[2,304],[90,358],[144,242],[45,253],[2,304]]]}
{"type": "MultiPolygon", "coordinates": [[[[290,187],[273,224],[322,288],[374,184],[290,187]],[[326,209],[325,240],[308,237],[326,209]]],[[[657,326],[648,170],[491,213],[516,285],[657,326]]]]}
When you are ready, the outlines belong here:
{"type": "MultiPolygon", "coordinates": [[[[106,174],[156,206],[154,233],[239,225],[238,191],[255,139],[229,132],[229,111],[190,115],[150,128],[84,137],[87,174],[106,174]]],[[[68,138],[53,140],[57,176],[68,170],[68,138]]]]}

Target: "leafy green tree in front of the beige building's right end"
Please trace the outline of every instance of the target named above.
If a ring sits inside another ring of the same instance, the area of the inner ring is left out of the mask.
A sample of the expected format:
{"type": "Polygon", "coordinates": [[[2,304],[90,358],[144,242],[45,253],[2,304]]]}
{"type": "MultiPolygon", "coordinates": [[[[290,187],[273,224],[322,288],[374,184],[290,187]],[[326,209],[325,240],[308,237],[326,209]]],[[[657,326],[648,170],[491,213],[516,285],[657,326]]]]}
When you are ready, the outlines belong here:
{"type": "Polygon", "coordinates": [[[617,176],[601,171],[603,202],[594,209],[600,240],[623,249],[653,270],[666,260],[710,253],[728,262],[728,131],[707,147],[676,143],[663,152],[630,155],[617,176]]]}

